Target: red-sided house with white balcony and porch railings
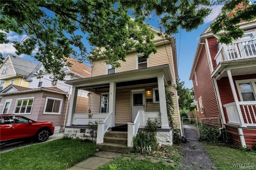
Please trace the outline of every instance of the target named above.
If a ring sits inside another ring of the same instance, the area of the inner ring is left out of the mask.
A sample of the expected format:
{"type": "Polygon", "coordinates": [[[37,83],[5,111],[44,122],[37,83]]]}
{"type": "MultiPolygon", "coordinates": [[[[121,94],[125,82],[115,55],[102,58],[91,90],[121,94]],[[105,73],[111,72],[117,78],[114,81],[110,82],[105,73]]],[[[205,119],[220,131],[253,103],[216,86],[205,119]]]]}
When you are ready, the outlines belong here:
{"type": "Polygon", "coordinates": [[[244,36],[228,45],[220,44],[210,27],[201,34],[190,80],[198,117],[220,116],[235,145],[252,147],[256,144],[256,20],[239,26],[244,36]]]}

